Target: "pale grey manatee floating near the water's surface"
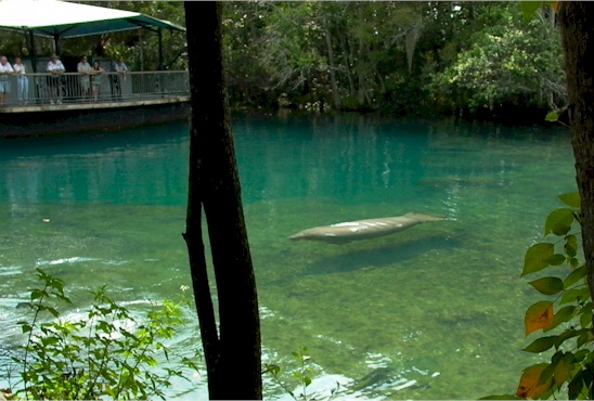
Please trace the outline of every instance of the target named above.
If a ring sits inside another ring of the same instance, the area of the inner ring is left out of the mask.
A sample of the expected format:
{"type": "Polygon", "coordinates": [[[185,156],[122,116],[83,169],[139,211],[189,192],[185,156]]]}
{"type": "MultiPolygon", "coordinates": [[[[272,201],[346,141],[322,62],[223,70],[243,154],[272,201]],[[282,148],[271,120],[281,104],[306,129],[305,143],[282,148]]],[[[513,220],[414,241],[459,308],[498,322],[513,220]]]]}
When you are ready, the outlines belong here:
{"type": "Polygon", "coordinates": [[[315,227],[313,229],[299,231],[297,234],[289,236],[289,240],[324,241],[333,244],[346,244],[352,241],[370,240],[393,234],[419,223],[439,220],[448,220],[448,218],[444,216],[410,212],[397,217],[383,217],[315,227]]]}

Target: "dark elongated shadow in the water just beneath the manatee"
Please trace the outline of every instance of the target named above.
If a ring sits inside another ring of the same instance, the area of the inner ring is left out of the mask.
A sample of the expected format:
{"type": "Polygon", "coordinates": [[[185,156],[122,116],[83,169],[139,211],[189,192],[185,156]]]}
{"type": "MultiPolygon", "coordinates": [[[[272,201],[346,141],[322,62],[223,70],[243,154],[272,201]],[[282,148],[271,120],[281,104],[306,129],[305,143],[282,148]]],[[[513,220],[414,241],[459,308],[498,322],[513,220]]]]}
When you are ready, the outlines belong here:
{"type": "MultiPolygon", "coordinates": [[[[307,267],[304,273],[345,273],[360,269],[386,267],[414,259],[424,253],[451,249],[462,245],[462,241],[457,238],[457,235],[447,234],[431,234],[422,238],[398,238],[395,236],[393,242],[379,246],[374,245],[373,240],[364,242],[369,244],[369,247],[354,250],[348,249],[349,245],[338,245],[345,247],[345,253],[323,258],[307,267]]],[[[361,244],[358,244],[358,246],[361,246],[361,244]]]]}

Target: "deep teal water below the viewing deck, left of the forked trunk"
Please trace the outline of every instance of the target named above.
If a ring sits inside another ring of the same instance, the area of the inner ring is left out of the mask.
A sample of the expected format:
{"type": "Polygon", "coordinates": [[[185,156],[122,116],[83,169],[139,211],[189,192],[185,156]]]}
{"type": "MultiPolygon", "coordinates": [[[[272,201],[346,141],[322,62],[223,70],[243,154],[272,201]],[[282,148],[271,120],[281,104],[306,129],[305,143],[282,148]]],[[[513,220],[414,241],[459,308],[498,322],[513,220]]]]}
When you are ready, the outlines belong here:
{"type": "Polygon", "coordinates": [[[0,150],[5,183],[0,197],[12,204],[182,199],[188,187],[188,143],[180,134],[184,126],[146,130],[5,141],[0,150]],[[168,135],[169,129],[177,134],[168,135]]]}

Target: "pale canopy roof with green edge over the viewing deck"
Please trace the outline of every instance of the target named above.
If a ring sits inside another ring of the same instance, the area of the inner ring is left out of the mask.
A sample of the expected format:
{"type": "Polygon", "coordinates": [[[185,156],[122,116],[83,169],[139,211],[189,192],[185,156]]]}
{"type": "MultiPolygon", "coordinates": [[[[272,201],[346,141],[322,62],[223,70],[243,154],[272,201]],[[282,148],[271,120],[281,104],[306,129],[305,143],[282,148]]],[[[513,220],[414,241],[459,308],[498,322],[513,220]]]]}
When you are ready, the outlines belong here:
{"type": "Polygon", "coordinates": [[[185,30],[131,11],[57,0],[0,0],[0,29],[66,39],[139,28],[185,30]]]}

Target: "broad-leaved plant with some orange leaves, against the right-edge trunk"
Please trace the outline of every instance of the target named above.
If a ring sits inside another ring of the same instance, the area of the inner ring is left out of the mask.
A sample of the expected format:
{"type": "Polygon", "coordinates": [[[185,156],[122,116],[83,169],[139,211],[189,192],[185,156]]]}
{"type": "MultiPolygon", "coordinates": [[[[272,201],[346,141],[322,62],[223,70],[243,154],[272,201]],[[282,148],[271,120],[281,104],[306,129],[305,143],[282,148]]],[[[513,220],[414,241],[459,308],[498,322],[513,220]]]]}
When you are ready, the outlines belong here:
{"type": "Polygon", "coordinates": [[[558,197],[567,207],[548,214],[544,224],[548,241],[527,250],[521,272],[522,276],[538,275],[529,284],[545,296],[526,311],[526,335],[540,329],[542,335],[524,351],[552,350],[553,353],[550,362],[525,368],[516,396],[559,398],[567,391],[571,400],[591,400],[594,397],[593,307],[585,264],[581,260],[580,197],[578,193],[558,197]]]}

